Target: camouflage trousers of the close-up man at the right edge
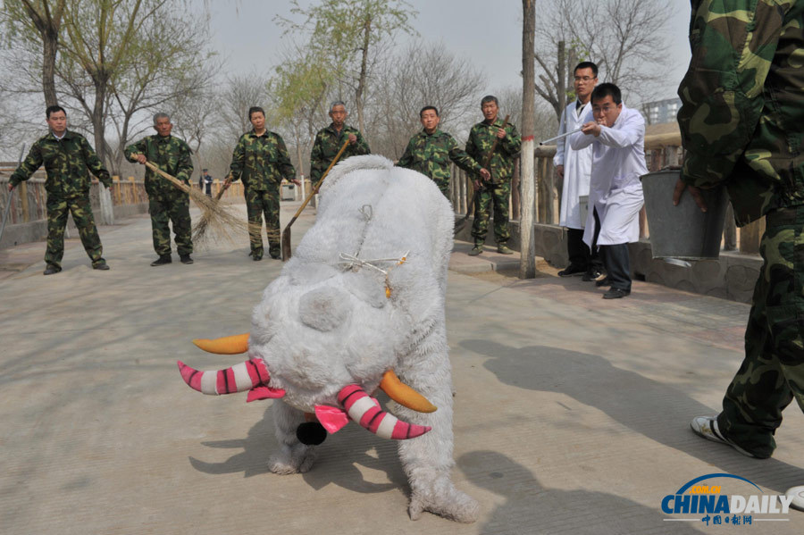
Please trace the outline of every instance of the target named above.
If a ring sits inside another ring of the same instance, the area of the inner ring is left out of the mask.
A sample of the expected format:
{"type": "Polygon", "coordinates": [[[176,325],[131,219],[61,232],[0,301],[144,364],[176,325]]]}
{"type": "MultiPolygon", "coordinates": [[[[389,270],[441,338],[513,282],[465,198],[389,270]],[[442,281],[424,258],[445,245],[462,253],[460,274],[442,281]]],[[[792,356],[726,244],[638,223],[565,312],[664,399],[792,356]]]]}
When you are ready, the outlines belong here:
{"type": "Polygon", "coordinates": [[[745,359],[723,400],[717,425],[758,457],[769,457],[782,411],[804,410],[804,205],[768,213],[764,263],[745,330],[745,359]]]}

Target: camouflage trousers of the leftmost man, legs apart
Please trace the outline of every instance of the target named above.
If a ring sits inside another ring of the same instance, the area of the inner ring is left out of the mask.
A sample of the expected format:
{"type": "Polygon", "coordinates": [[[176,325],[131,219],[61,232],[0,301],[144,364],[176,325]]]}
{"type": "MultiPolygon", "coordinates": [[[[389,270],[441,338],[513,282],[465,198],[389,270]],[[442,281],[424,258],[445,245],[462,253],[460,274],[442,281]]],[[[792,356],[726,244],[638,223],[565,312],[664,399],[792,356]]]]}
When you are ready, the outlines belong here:
{"type": "Polygon", "coordinates": [[[72,213],[72,221],[79,230],[81,244],[92,265],[103,262],[104,247],[97,235],[95,218],[92,216],[92,205],[89,196],[59,198],[47,196],[47,249],[45,262],[48,265],[61,267],[64,255],[64,229],[67,227],[67,214],[72,213]]]}

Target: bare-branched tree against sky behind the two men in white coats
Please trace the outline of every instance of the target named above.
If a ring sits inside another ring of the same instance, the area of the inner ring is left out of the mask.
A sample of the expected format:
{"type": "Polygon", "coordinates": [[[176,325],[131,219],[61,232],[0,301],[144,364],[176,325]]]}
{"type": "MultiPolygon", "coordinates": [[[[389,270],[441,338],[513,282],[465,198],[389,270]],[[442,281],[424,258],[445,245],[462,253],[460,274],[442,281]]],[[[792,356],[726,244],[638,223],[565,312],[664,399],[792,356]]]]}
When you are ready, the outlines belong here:
{"type": "Polygon", "coordinates": [[[536,24],[537,93],[560,116],[561,88],[572,88],[572,69],[589,60],[599,78],[644,97],[661,79],[666,58],[666,25],[672,5],[661,0],[542,1],[536,24]],[[559,49],[558,43],[564,43],[559,49]],[[564,69],[560,69],[560,66],[564,69]]]}

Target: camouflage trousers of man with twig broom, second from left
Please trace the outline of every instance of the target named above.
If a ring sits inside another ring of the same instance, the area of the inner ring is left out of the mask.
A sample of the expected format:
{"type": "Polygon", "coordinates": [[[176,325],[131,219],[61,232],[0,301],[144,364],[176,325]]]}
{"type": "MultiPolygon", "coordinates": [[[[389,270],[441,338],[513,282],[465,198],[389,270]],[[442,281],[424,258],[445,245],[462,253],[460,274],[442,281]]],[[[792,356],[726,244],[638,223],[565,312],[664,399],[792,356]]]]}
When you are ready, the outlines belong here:
{"type": "Polygon", "coordinates": [[[148,213],[151,214],[151,231],[157,255],[171,255],[171,228],[180,255],[193,252],[192,222],[189,216],[189,196],[148,196],[148,213]]]}

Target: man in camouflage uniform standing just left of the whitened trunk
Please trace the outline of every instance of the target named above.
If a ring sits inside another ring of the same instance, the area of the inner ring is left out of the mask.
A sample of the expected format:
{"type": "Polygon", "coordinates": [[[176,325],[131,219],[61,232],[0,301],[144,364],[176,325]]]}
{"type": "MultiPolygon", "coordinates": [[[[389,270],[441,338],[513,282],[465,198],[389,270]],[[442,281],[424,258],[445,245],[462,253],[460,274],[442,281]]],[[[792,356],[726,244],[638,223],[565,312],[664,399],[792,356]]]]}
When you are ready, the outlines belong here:
{"type": "Polygon", "coordinates": [[[512,251],[507,245],[511,237],[511,231],[508,230],[508,196],[511,194],[511,179],[514,176],[514,157],[522,147],[522,138],[513,124],[508,123],[505,129],[502,128],[503,123],[498,119],[499,104],[496,96],[483,96],[481,110],[485,120],[475,124],[469,131],[466,153],[475,162],[485,163],[494,140],[499,141],[489,164],[491,179],[474,182],[474,247],[469,255],[480,255],[483,252],[492,203],[497,251],[503,255],[511,255],[512,251]]]}

